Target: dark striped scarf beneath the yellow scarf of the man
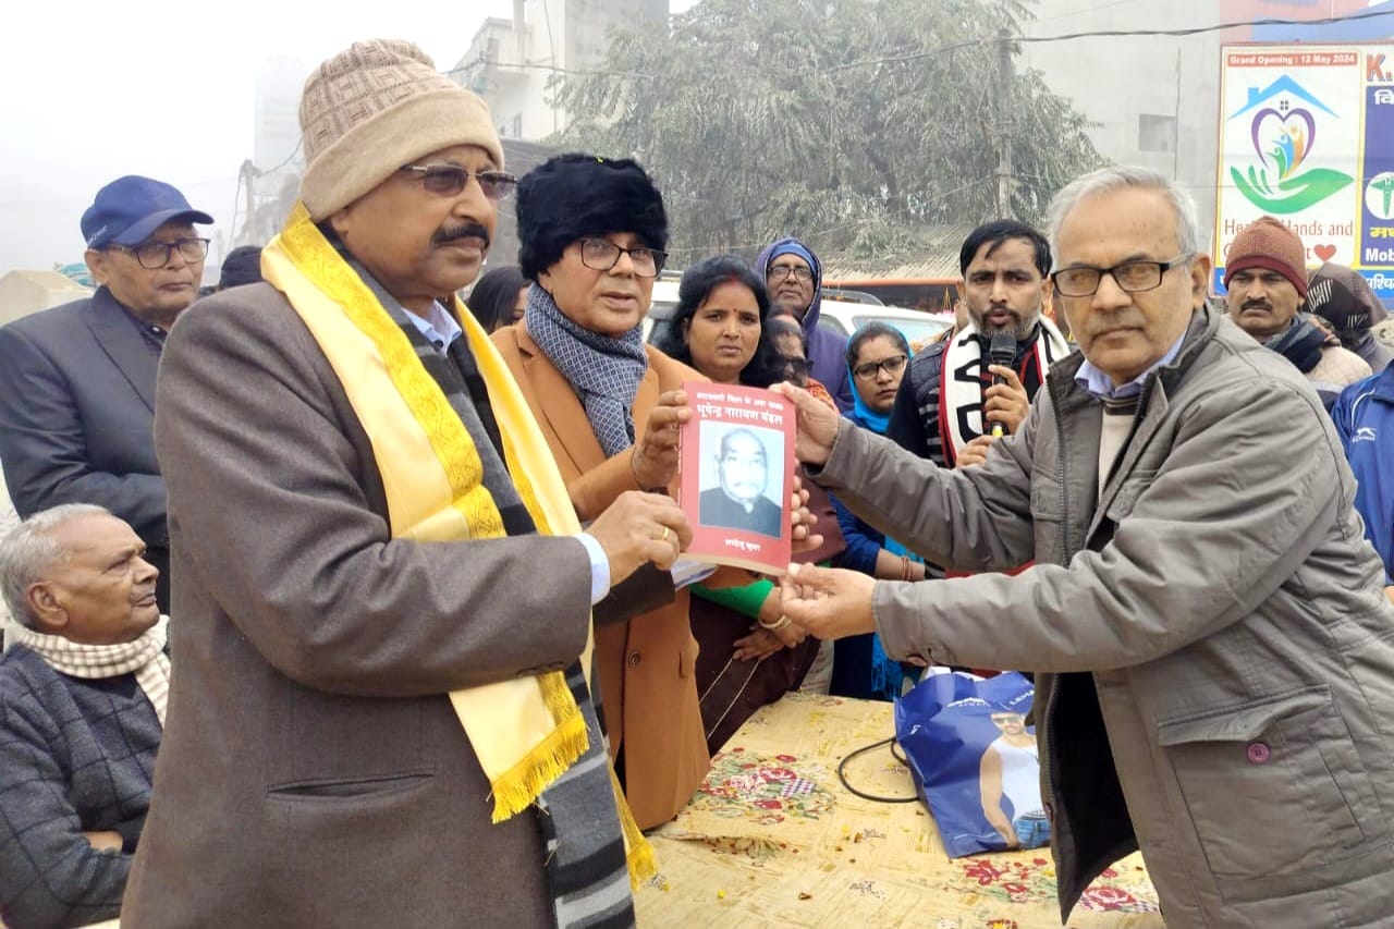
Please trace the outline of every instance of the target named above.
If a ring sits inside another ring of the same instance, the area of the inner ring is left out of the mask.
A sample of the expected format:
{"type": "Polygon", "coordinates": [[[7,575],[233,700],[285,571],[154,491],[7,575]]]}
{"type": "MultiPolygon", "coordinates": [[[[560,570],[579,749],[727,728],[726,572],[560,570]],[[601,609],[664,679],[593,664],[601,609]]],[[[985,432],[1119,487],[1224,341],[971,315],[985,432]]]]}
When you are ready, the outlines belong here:
{"type": "MultiPolygon", "coordinates": [[[[466,339],[454,339],[445,353],[439,352],[407,318],[406,308],[361,266],[354,265],[354,269],[401,326],[421,364],[464,423],[484,464],[484,485],[493,497],[507,534],[537,531],[509,477],[488,386],[466,339]]],[[[585,717],[590,748],[537,801],[552,914],[558,929],[625,929],[634,925],[634,901],[611,785],[608,745],[598,721],[599,704],[591,702],[580,661],[566,670],[566,683],[585,717]]]]}

